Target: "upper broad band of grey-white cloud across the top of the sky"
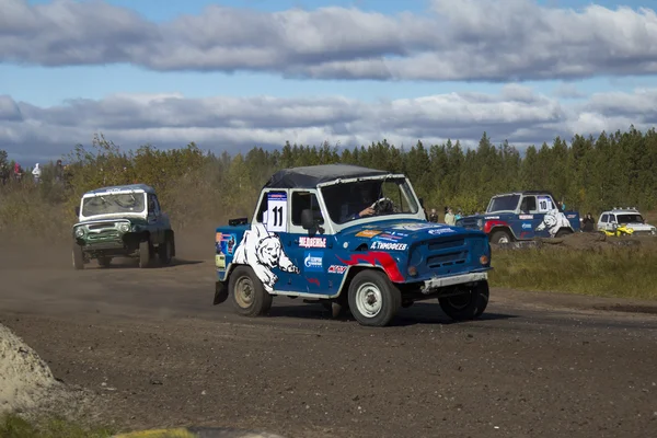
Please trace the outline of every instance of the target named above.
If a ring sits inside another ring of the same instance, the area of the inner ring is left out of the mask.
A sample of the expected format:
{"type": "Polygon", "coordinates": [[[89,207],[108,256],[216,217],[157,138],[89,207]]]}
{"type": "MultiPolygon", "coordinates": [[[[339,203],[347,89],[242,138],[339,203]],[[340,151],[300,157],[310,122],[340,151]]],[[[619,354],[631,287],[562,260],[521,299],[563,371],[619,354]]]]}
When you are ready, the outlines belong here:
{"type": "Polygon", "coordinates": [[[209,7],[149,22],[102,1],[0,0],[0,60],[131,62],[285,77],[519,81],[657,73],[657,14],[532,0],[434,0],[427,13],[209,7]]]}

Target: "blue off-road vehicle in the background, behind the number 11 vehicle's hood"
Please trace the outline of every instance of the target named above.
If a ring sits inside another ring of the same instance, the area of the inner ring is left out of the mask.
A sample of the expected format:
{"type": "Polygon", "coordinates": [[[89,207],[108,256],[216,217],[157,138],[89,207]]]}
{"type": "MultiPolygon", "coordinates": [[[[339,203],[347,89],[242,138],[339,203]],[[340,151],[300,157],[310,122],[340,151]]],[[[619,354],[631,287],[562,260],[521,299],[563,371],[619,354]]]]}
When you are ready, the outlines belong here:
{"type": "Polygon", "coordinates": [[[580,229],[577,211],[563,211],[550,192],[505,193],[491,198],[484,215],[466,216],[457,227],[482,230],[491,243],[561,238],[580,229]]]}

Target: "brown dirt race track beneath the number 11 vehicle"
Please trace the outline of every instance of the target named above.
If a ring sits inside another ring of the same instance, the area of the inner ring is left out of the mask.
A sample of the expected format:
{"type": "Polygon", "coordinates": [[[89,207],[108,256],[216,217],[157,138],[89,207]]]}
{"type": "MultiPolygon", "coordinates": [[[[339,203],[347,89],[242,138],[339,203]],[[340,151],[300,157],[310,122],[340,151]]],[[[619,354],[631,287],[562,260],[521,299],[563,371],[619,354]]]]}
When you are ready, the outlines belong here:
{"type": "MultiPolygon", "coordinates": [[[[210,242],[211,235],[207,240],[210,242]]],[[[74,272],[62,247],[0,250],[0,322],[122,428],[228,426],[288,437],[652,437],[657,315],[493,289],[484,318],[437,303],[367,328],[275,299],[211,306],[205,240],[184,263],[74,272]]],[[[194,250],[194,251],[193,251],[194,250]]],[[[209,255],[209,257],[207,256],[209,255]]]]}

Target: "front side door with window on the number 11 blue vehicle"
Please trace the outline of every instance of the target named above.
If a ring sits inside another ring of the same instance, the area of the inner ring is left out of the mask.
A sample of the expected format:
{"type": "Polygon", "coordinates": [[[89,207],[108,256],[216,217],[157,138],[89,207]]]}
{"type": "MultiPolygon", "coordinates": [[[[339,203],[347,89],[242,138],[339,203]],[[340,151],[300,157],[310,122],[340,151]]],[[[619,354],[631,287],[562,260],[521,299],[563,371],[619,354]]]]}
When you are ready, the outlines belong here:
{"type": "Polygon", "coordinates": [[[300,269],[292,280],[292,291],[301,293],[330,295],[327,277],[327,256],[333,251],[334,235],[328,235],[324,227],[324,217],[316,192],[311,189],[290,191],[290,244],[288,254],[300,269]],[[310,209],[322,230],[304,230],[301,226],[301,212],[310,209]]]}

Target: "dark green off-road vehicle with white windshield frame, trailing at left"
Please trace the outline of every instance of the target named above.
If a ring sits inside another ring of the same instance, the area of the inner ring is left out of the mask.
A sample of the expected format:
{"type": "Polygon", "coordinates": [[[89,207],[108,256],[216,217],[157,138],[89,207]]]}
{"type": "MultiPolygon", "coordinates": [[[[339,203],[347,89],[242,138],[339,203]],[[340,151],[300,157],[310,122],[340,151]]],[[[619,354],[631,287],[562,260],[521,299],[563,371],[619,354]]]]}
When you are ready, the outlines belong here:
{"type": "Polygon", "coordinates": [[[162,265],[175,256],[171,222],[160,209],[153,187],[132,184],[88,192],[76,215],[76,269],[83,269],[93,258],[107,267],[114,257],[138,257],[139,267],[150,267],[155,254],[162,265]]]}

